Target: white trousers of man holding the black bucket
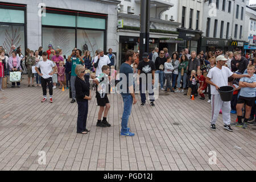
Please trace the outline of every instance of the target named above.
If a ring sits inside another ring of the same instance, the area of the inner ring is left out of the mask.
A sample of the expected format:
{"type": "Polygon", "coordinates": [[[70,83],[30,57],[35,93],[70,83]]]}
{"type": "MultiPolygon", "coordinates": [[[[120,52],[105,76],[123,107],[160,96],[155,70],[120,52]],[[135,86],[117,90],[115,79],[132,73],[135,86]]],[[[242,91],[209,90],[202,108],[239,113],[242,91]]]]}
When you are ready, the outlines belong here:
{"type": "Polygon", "coordinates": [[[220,109],[222,110],[222,119],[225,125],[230,125],[230,110],[231,105],[229,102],[224,102],[221,100],[220,94],[212,95],[212,120],[210,121],[211,125],[215,125],[220,109]]]}

